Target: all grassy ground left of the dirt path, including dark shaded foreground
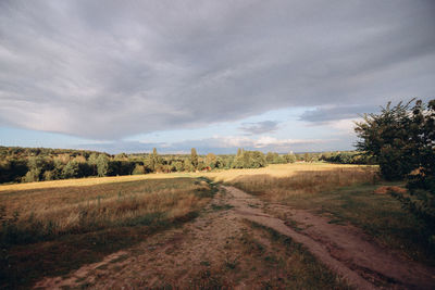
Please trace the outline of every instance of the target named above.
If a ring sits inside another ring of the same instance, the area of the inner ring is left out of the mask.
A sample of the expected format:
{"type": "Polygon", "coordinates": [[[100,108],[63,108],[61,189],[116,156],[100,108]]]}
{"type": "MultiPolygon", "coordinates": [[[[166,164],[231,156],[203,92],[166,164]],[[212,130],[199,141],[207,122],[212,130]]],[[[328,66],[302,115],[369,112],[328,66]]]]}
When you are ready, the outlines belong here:
{"type": "Polygon", "coordinates": [[[98,261],[194,218],[212,194],[192,178],[2,192],[0,286],[98,261]]]}

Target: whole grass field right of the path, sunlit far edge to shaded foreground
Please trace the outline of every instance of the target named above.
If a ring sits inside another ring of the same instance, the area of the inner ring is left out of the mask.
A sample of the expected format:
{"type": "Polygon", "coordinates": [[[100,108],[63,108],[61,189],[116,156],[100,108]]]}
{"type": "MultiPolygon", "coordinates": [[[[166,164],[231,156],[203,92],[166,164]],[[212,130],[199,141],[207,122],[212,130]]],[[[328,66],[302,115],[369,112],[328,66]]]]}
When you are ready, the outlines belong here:
{"type": "Polygon", "coordinates": [[[223,180],[264,201],[327,215],[331,223],[350,223],[409,259],[435,265],[427,226],[387,192],[375,193],[380,187],[405,184],[380,180],[377,167],[299,165],[287,176],[271,172],[223,180]]]}

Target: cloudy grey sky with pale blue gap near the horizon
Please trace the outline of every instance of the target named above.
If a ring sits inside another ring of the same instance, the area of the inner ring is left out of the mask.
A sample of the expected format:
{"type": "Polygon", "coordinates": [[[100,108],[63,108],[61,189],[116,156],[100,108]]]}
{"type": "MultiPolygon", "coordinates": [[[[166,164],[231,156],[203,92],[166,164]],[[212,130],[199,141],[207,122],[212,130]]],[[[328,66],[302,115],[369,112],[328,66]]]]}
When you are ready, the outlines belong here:
{"type": "Polygon", "coordinates": [[[0,146],[351,150],[435,98],[435,1],[0,1],[0,146]]]}

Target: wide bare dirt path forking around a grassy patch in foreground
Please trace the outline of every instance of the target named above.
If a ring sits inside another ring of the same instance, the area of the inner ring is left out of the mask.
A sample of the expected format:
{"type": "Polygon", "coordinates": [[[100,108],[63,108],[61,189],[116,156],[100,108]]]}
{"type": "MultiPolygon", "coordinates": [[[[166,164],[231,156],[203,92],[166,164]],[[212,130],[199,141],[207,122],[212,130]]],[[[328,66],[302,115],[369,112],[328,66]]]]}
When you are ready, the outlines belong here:
{"type": "MultiPolygon", "coordinates": [[[[282,264],[264,262],[289,253],[249,227],[244,222],[248,219],[302,243],[357,289],[434,289],[434,269],[401,260],[358,228],[328,224],[306,211],[264,204],[233,187],[223,189],[204,213],[182,228],[160,232],[100,263],[65,277],[46,278],[35,287],[300,289],[297,283],[285,283],[287,273],[279,268],[282,264]]],[[[295,261],[298,259],[289,263],[295,261]]]]}

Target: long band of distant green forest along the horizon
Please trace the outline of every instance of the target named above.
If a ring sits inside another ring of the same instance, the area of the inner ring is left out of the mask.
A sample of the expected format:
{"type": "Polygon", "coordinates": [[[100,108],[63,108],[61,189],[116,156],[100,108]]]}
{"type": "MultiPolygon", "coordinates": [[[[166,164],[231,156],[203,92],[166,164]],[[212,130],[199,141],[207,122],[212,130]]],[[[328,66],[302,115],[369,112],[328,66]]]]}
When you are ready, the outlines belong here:
{"type": "Polygon", "coordinates": [[[268,164],[326,161],[368,164],[368,159],[353,151],[278,154],[238,149],[237,154],[207,155],[120,153],[70,149],[0,147],[0,184],[33,182],[90,176],[138,175],[148,173],[259,168],[268,164]]]}

